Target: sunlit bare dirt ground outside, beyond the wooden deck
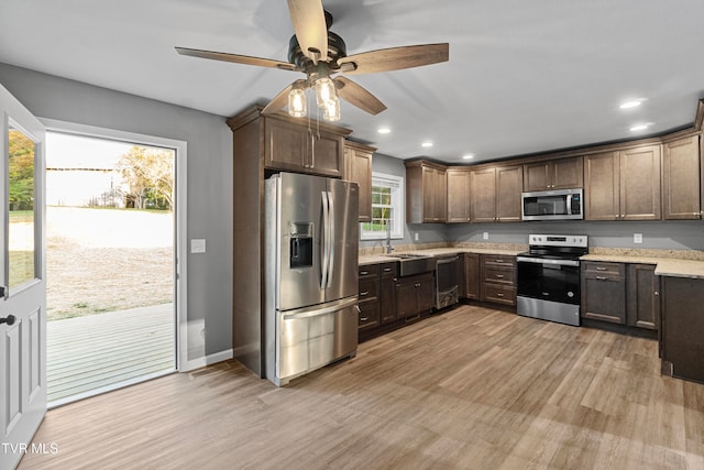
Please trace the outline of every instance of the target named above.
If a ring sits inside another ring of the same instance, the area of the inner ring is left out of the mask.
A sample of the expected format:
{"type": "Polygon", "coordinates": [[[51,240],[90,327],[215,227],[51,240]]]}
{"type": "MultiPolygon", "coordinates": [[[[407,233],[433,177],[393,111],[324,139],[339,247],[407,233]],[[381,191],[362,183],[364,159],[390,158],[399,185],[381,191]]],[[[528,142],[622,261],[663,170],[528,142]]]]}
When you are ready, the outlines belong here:
{"type": "Polygon", "coordinates": [[[174,215],[46,208],[50,321],[174,300],[174,215]]]}

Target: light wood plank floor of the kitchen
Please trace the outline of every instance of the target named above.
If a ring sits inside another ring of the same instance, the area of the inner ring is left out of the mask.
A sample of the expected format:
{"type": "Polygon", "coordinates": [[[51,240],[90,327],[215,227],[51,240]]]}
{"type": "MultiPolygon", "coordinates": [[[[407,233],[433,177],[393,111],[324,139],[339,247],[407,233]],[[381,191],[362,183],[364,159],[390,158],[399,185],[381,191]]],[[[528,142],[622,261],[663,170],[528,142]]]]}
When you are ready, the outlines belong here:
{"type": "Polygon", "coordinates": [[[20,469],[702,469],[657,342],[463,306],[276,389],[237,362],[51,411],[20,469]]]}

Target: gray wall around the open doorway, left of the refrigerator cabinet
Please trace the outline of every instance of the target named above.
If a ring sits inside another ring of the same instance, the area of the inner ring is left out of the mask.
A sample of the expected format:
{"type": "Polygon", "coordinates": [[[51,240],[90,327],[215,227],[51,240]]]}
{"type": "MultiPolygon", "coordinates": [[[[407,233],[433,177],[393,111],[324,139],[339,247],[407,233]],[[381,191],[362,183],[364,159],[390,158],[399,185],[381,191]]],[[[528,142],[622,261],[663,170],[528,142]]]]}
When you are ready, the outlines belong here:
{"type": "Polygon", "coordinates": [[[206,356],[230,350],[232,133],[224,118],[6,64],[0,84],[40,118],[188,143],[187,237],[206,239],[208,251],[188,258],[188,321],[205,323],[206,334],[187,348],[206,356]]]}

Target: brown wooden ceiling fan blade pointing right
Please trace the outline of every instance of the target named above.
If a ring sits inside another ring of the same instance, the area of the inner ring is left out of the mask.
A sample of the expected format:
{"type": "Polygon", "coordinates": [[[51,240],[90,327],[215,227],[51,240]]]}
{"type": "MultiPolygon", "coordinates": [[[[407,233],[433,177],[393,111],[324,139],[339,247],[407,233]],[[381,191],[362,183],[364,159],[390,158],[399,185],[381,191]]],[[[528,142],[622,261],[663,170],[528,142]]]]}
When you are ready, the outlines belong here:
{"type": "Polygon", "coordinates": [[[450,58],[450,44],[421,44],[363,52],[338,59],[348,75],[375,74],[438,64],[450,58]],[[344,65],[351,64],[351,65],[344,65]]]}

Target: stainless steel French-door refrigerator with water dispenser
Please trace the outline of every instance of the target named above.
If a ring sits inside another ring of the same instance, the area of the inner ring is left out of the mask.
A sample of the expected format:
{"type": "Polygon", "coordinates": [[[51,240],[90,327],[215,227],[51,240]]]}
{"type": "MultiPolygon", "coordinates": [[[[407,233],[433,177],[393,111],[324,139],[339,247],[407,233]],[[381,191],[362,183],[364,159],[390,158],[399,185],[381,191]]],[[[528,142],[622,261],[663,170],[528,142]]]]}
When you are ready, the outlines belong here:
{"type": "Polygon", "coordinates": [[[264,361],[280,386],[356,353],[359,186],[279,173],[265,192],[264,361]]]}

